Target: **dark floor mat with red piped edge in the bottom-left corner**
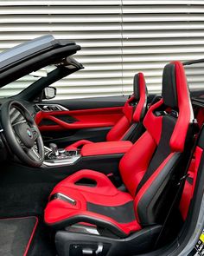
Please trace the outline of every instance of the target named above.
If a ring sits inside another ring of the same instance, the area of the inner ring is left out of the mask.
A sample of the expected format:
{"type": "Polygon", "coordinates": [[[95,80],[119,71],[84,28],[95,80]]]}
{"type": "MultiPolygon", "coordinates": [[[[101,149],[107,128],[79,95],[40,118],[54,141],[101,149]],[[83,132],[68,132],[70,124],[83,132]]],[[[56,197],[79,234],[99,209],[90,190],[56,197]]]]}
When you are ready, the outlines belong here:
{"type": "Polygon", "coordinates": [[[26,255],[37,222],[36,217],[0,220],[0,256],[26,255]]]}

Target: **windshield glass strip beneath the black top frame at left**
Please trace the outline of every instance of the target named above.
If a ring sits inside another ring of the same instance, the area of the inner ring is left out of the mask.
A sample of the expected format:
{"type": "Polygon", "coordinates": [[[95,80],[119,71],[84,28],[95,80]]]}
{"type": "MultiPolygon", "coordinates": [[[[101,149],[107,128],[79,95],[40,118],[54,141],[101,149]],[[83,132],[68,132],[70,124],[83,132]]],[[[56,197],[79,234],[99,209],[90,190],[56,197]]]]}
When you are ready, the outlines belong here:
{"type": "Polygon", "coordinates": [[[29,85],[41,79],[41,77],[47,76],[48,73],[54,69],[56,69],[54,65],[47,66],[43,69],[32,72],[29,75],[24,75],[15,82],[10,82],[6,84],[2,88],[0,88],[0,98],[11,97],[19,94],[20,92],[22,92],[23,89],[26,89],[27,87],[29,87],[29,85]]]}

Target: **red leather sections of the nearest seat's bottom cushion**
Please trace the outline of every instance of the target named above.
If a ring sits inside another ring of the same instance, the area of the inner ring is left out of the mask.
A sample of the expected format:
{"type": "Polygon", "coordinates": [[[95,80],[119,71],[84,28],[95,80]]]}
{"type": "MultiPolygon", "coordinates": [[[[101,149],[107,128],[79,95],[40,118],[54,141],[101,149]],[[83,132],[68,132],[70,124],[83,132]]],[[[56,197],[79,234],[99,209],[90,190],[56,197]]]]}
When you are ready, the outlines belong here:
{"type": "Polygon", "coordinates": [[[51,200],[45,210],[45,220],[48,224],[56,223],[73,216],[83,215],[97,218],[98,220],[111,222],[114,226],[118,226],[118,228],[126,234],[141,229],[141,226],[139,226],[137,220],[122,224],[110,217],[106,217],[105,215],[87,211],[86,201],[102,206],[105,205],[117,207],[132,200],[130,194],[121,192],[114,187],[112,182],[105,176],[105,174],[92,170],[81,170],[64,181],[61,181],[56,187],[54,187],[52,194],[59,192],[74,198],[77,203],[75,206],[73,206],[72,204],[68,204],[63,200],[51,200]],[[97,186],[87,187],[74,184],[83,178],[96,181],[97,186]]]}

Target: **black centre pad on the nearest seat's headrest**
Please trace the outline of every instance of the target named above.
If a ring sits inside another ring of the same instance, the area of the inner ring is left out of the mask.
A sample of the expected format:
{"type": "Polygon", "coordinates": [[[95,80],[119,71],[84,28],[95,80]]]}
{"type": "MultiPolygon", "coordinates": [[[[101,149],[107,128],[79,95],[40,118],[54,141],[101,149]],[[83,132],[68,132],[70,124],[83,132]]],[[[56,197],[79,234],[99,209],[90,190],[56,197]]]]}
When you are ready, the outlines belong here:
{"type": "Polygon", "coordinates": [[[165,106],[177,109],[177,91],[175,82],[175,63],[167,64],[163,69],[163,103],[165,106]]]}

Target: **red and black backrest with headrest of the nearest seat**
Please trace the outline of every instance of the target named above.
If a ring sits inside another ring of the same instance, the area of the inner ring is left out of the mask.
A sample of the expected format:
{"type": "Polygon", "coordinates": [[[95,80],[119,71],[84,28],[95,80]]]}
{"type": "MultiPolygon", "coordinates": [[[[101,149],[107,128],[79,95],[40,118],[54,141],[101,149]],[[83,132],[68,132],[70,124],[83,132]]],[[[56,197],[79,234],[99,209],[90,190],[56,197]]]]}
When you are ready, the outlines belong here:
{"type": "Polygon", "coordinates": [[[135,198],[135,213],[142,226],[158,220],[162,198],[165,200],[171,174],[182,160],[194,120],[181,62],[171,62],[163,69],[162,95],[145,115],[145,133],[119,165],[124,184],[135,198]]]}

